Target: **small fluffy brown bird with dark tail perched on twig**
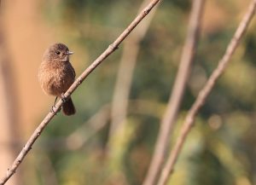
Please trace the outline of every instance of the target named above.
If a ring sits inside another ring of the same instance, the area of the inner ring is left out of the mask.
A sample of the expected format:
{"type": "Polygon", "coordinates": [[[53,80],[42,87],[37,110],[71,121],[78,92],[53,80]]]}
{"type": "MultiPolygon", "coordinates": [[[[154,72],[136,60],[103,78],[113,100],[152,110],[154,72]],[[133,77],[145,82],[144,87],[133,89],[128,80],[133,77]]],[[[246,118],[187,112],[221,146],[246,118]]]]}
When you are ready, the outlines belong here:
{"type": "MultiPolygon", "coordinates": [[[[76,73],[69,62],[69,55],[72,54],[63,43],[55,43],[44,52],[38,78],[44,93],[55,95],[55,101],[58,97],[62,99],[62,95],[75,80],[76,73]]],[[[62,110],[68,116],[76,112],[71,97],[63,102],[62,110]]]]}

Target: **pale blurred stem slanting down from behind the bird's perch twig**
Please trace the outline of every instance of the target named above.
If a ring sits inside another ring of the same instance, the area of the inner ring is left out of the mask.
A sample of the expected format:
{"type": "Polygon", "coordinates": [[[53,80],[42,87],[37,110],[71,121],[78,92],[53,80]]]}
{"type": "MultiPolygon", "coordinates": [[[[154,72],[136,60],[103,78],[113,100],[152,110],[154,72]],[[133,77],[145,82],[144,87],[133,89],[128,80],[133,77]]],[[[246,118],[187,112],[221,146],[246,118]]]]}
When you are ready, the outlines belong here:
{"type": "MultiPolygon", "coordinates": [[[[147,3],[149,3],[149,0],[144,0],[138,12],[140,12],[147,3]]],[[[149,14],[147,19],[137,27],[137,29],[131,34],[130,38],[125,40],[123,54],[119,64],[119,71],[116,78],[117,81],[113,91],[113,104],[111,110],[112,121],[109,129],[108,146],[111,145],[116,133],[122,132],[125,129],[125,117],[131,90],[131,80],[140,49],[139,44],[148,31],[148,27],[154,17],[155,10],[156,9],[152,10],[151,14],[149,14]]]]}

